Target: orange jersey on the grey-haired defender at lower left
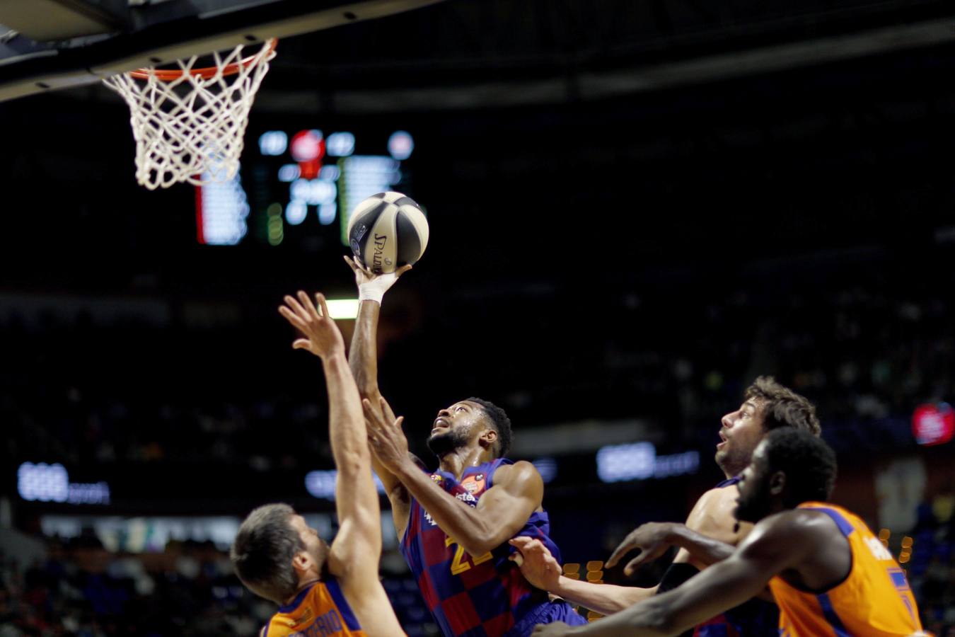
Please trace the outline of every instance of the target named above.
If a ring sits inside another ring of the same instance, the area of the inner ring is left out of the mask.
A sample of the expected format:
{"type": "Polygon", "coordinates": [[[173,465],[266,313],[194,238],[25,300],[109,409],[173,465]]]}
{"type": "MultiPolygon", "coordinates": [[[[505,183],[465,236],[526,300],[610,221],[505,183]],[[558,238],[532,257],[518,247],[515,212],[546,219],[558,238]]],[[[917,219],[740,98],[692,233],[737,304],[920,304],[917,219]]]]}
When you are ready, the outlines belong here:
{"type": "Polygon", "coordinates": [[[366,637],[334,578],[303,589],[288,605],[279,606],[260,637],[366,637]]]}

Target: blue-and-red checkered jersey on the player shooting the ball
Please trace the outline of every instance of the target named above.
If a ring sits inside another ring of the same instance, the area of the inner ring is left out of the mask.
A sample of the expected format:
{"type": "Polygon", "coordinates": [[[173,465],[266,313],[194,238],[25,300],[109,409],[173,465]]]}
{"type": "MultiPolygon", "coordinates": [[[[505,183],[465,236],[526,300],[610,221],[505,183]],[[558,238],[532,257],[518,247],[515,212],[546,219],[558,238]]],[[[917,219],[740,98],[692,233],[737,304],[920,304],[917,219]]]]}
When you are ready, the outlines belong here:
{"type": "MultiPolygon", "coordinates": [[[[477,506],[477,500],[494,485],[494,474],[510,460],[499,458],[468,467],[458,481],[435,471],[431,478],[456,499],[477,506]]],[[[554,558],[561,551],[549,537],[545,512],[535,512],[516,536],[540,540],[554,558]]],[[[472,556],[447,536],[416,499],[412,499],[408,528],[401,553],[411,566],[425,604],[447,637],[529,635],[535,624],[554,621],[580,626],[586,620],[565,602],[550,602],[520,574],[508,556],[514,547],[504,542],[484,555],[472,556]]]]}

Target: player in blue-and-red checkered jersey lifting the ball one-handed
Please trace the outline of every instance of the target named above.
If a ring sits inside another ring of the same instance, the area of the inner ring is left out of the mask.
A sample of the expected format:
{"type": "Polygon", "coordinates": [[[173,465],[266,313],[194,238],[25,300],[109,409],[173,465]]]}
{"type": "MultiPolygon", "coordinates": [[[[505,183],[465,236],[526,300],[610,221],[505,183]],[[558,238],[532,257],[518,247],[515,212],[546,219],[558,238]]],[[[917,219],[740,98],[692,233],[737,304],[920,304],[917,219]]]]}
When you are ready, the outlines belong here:
{"type": "Polygon", "coordinates": [[[586,623],[570,605],[552,602],[508,558],[508,541],[526,536],[560,555],[541,507],[543,481],[530,462],[503,456],[510,420],[503,410],[468,398],[438,412],[429,448],[439,458],[423,470],[377,386],[375,338],[385,290],[404,270],[373,276],[355,272],[361,305],[349,362],[365,398],[374,470],[392,503],[401,552],[441,631],[466,637],[523,636],[535,624],[586,623]]]}

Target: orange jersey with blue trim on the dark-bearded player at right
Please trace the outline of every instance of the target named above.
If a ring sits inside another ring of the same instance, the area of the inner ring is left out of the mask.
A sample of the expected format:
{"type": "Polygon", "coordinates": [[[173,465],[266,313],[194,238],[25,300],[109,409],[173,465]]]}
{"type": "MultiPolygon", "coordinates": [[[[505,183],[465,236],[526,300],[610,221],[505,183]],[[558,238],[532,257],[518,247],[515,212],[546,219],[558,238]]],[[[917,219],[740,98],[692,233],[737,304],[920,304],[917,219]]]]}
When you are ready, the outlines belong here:
{"type": "Polygon", "coordinates": [[[780,637],[888,637],[922,630],[905,573],[865,522],[828,502],[803,502],[798,508],[825,513],[838,524],[852,550],[852,568],[823,593],[804,592],[774,577],[770,588],[779,605],[780,637]]]}

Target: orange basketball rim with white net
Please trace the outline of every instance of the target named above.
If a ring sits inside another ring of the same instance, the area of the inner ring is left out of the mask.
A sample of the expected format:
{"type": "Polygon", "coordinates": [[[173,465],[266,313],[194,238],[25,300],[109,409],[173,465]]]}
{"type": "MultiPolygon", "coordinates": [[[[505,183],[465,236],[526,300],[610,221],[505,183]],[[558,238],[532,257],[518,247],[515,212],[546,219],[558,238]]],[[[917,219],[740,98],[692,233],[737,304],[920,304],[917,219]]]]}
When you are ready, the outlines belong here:
{"type": "Polygon", "coordinates": [[[155,190],[235,177],[248,112],[276,44],[267,40],[247,57],[244,45],[213,53],[209,67],[194,68],[194,55],[180,60],[179,69],[137,69],[103,80],[129,106],[140,185],[155,190]]]}

